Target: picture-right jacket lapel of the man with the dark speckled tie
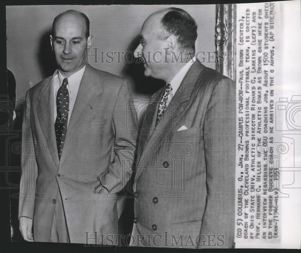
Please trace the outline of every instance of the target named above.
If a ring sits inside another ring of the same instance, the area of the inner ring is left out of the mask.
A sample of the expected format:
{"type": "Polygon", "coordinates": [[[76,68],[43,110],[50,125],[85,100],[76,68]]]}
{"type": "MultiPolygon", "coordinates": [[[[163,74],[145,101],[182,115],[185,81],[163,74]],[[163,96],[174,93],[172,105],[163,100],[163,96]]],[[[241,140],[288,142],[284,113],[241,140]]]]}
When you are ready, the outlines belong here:
{"type": "Polygon", "coordinates": [[[102,92],[101,80],[93,78],[93,76],[95,76],[95,74],[93,73],[92,67],[86,64],[70,117],[60,164],[64,162],[74,142],[85,127],[85,124],[101,102],[98,97],[102,92]],[[95,89],[95,87],[97,87],[97,89],[95,89]]]}

